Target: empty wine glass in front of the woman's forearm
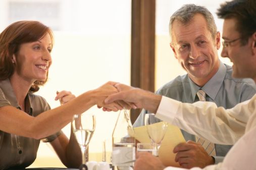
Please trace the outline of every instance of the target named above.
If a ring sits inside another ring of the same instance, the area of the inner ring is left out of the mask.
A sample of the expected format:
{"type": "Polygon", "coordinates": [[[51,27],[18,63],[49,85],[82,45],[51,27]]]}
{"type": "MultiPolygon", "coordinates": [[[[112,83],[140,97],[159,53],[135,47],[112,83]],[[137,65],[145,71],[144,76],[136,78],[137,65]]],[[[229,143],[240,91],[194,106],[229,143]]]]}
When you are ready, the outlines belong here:
{"type": "Polygon", "coordinates": [[[80,169],[85,170],[86,149],[95,130],[95,116],[87,113],[74,115],[72,130],[82,152],[82,165],[80,169]]]}

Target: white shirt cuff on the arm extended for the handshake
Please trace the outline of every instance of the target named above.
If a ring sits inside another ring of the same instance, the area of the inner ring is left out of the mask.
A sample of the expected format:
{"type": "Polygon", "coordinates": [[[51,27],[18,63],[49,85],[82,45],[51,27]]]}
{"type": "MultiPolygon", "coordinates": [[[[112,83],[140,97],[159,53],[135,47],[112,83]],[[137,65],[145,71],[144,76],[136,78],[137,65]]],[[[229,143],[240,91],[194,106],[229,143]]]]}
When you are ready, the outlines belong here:
{"type": "Polygon", "coordinates": [[[177,110],[180,104],[180,101],[168,98],[166,96],[162,96],[161,102],[157,110],[156,118],[161,119],[162,121],[166,121],[168,123],[172,123],[177,114],[177,110]]]}

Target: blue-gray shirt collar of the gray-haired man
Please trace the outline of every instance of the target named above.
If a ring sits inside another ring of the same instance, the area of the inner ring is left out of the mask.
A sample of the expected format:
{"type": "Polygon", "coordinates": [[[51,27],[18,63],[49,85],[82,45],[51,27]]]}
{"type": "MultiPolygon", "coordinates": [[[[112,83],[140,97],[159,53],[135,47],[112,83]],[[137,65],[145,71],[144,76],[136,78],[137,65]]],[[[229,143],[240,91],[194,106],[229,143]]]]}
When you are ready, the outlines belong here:
{"type": "Polygon", "coordinates": [[[193,101],[195,100],[196,92],[199,89],[202,89],[212,100],[215,100],[215,97],[221,88],[222,82],[225,78],[227,72],[226,66],[220,61],[220,67],[217,73],[203,86],[197,86],[189,77],[189,84],[191,87],[191,95],[193,101]]]}

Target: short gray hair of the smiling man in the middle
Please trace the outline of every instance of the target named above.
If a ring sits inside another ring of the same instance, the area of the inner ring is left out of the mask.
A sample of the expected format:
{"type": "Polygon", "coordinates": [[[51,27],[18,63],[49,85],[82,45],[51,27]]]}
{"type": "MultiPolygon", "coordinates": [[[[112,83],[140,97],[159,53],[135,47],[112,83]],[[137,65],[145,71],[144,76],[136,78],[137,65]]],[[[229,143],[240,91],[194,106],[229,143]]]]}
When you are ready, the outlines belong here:
{"type": "Polygon", "coordinates": [[[195,14],[201,14],[206,19],[208,29],[211,32],[212,37],[213,38],[215,37],[217,33],[217,26],[215,24],[214,17],[211,14],[211,12],[205,7],[196,6],[194,4],[187,4],[187,5],[183,5],[179,10],[177,10],[171,16],[170,23],[169,23],[169,33],[170,33],[171,39],[173,38],[172,37],[173,22],[177,20],[184,25],[189,24],[189,22],[193,19],[195,14]]]}

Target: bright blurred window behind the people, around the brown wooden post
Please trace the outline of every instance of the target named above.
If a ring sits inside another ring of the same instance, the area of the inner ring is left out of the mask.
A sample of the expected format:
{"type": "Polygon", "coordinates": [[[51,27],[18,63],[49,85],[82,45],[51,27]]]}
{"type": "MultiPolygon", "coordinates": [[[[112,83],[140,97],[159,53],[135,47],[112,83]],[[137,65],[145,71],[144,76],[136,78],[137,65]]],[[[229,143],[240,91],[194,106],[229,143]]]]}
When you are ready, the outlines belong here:
{"type": "MultiPolygon", "coordinates": [[[[205,6],[214,15],[218,30],[222,32],[223,21],[215,13],[223,2],[156,0],[155,90],[185,74],[169,46],[170,16],[184,4],[205,6]]],[[[49,80],[37,92],[52,108],[60,105],[54,100],[57,90],[79,95],[110,80],[130,84],[131,0],[1,0],[0,31],[19,20],[37,20],[54,31],[49,80]]],[[[230,65],[229,60],[221,60],[230,65]]],[[[89,160],[100,161],[103,141],[106,141],[107,151],[111,150],[111,135],[118,114],[104,112],[96,106],[88,112],[96,115],[89,160]]],[[[63,132],[69,136],[70,129],[67,125],[63,132]]],[[[65,166],[49,145],[41,143],[36,161],[30,167],[65,166]]]]}

